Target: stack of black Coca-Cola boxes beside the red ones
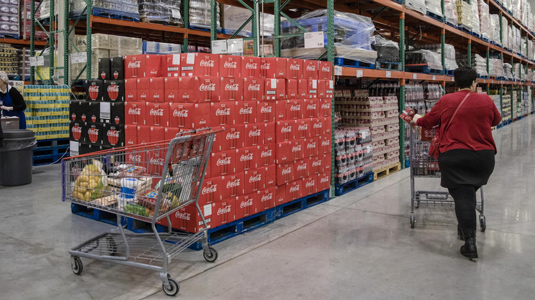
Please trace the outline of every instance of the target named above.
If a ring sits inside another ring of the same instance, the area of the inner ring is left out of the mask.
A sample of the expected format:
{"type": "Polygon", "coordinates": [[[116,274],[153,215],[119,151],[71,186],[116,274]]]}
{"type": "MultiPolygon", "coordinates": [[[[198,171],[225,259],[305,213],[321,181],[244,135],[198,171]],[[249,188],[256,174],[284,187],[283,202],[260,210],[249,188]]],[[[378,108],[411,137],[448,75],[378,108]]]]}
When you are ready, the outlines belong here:
{"type": "Polygon", "coordinates": [[[71,155],[125,146],[123,58],[99,59],[99,76],[84,101],[71,101],[71,155]]]}

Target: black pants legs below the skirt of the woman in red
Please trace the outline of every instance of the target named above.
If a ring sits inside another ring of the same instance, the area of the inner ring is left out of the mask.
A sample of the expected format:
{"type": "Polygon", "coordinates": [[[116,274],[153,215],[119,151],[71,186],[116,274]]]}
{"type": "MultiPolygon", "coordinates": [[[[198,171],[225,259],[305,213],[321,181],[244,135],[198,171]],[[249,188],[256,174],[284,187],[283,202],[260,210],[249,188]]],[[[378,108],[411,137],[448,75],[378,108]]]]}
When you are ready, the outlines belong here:
{"type": "Polygon", "coordinates": [[[477,217],[475,214],[475,193],[481,186],[462,185],[448,188],[455,201],[455,215],[462,230],[477,229],[477,217]]]}

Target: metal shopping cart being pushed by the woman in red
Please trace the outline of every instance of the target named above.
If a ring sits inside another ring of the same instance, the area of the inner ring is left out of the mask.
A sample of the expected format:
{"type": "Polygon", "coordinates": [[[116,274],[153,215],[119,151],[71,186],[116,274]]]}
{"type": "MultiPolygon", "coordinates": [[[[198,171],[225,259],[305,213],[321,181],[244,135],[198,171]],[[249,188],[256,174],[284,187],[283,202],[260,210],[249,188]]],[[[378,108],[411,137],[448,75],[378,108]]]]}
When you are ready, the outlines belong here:
{"type": "MultiPolygon", "coordinates": [[[[416,190],[416,178],[440,178],[440,168],[438,167],[438,160],[429,156],[430,138],[434,132],[429,132],[429,129],[422,129],[416,127],[409,129],[410,132],[410,174],[411,174],[411,228],[416,225],[416,218],[414,216],[414,209],[420,205],[426,206],[455,206],[453,198],[447,191],[431,191],[431,190],[416,190]],[[425,132],[425,131],[428,132],[425,132]],[[422,132],[424,131],[424,132],[422,132]],[[424,136],[424,138],[422,138],[424,136]],[[427,137],[427,138],[426,138],[427,137]]],[[[481,231],[485,232],[486,221],[483,214],[484,197],[483,188],[481,197],[476,201],[475,209],[479,212],[479,225],[481,231]]]]}

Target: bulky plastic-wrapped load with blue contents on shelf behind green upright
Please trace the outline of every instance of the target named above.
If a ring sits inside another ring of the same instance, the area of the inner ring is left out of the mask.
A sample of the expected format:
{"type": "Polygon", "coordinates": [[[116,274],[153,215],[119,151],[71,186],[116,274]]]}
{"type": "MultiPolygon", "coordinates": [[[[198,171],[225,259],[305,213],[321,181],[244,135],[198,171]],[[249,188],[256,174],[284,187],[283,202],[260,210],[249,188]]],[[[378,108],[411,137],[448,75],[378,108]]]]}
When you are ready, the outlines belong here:
{"type": "MultiPolygon", "coordinates": [[[[377,51],[372,50],[371,47],[375,32],[372,19],[367,16],[338,11],[335,11],[334,15],[335,56],[375,64],[377,51]]],[[[309,32],[327,31],[327,10],[314,10],[296,19],[296,22],[309,32]]],[[[301,33],[300,29],[289,21],[281,22],[281,29],[283,34],[301,33]]],[[[324,48],[305,49],[304,46],[305,38],[302,36],[283,38],[281,43],[282,56],[316,59],[325,52],[324,48]]]]}

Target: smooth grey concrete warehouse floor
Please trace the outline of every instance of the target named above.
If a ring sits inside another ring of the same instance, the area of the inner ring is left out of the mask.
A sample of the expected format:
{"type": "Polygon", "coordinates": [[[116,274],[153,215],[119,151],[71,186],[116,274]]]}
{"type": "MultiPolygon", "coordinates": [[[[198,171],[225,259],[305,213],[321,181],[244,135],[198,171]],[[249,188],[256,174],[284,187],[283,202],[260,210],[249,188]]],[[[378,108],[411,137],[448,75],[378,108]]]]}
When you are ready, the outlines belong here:
{"type": "MultiPolygon", "coordinates": [[[[188,251],[171,264],[178,299],[533,299],[535,116],[495,132],[479,260],[459,254],[453,208],[419,208],[409,226],[409,171],[215,245],[209,264],[188,251]]],[[[69,248],[112,226],[61,202],[60,165],[34,183],[0,187],[0,299],[169,299],[158,274],[82,258],[69,248]]],[[[438,181],[417,182],[420,189],[438,181]]]]}

